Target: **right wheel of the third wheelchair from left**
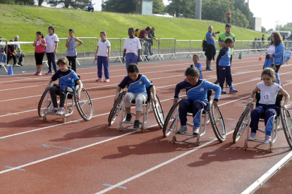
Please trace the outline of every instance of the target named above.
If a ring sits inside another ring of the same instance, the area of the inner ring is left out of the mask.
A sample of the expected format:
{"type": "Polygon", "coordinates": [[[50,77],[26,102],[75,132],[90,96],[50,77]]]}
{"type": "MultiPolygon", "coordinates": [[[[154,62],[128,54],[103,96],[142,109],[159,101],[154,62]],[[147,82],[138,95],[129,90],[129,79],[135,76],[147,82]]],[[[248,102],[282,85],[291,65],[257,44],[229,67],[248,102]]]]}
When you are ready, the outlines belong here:
{"type": "Polygon", "coordinates": [[[220,142],[224,142],[226,138],[226,128],[219,107],[214,108],[212,101],[209,103],[209,117],[215,136],[220,142]]]}

